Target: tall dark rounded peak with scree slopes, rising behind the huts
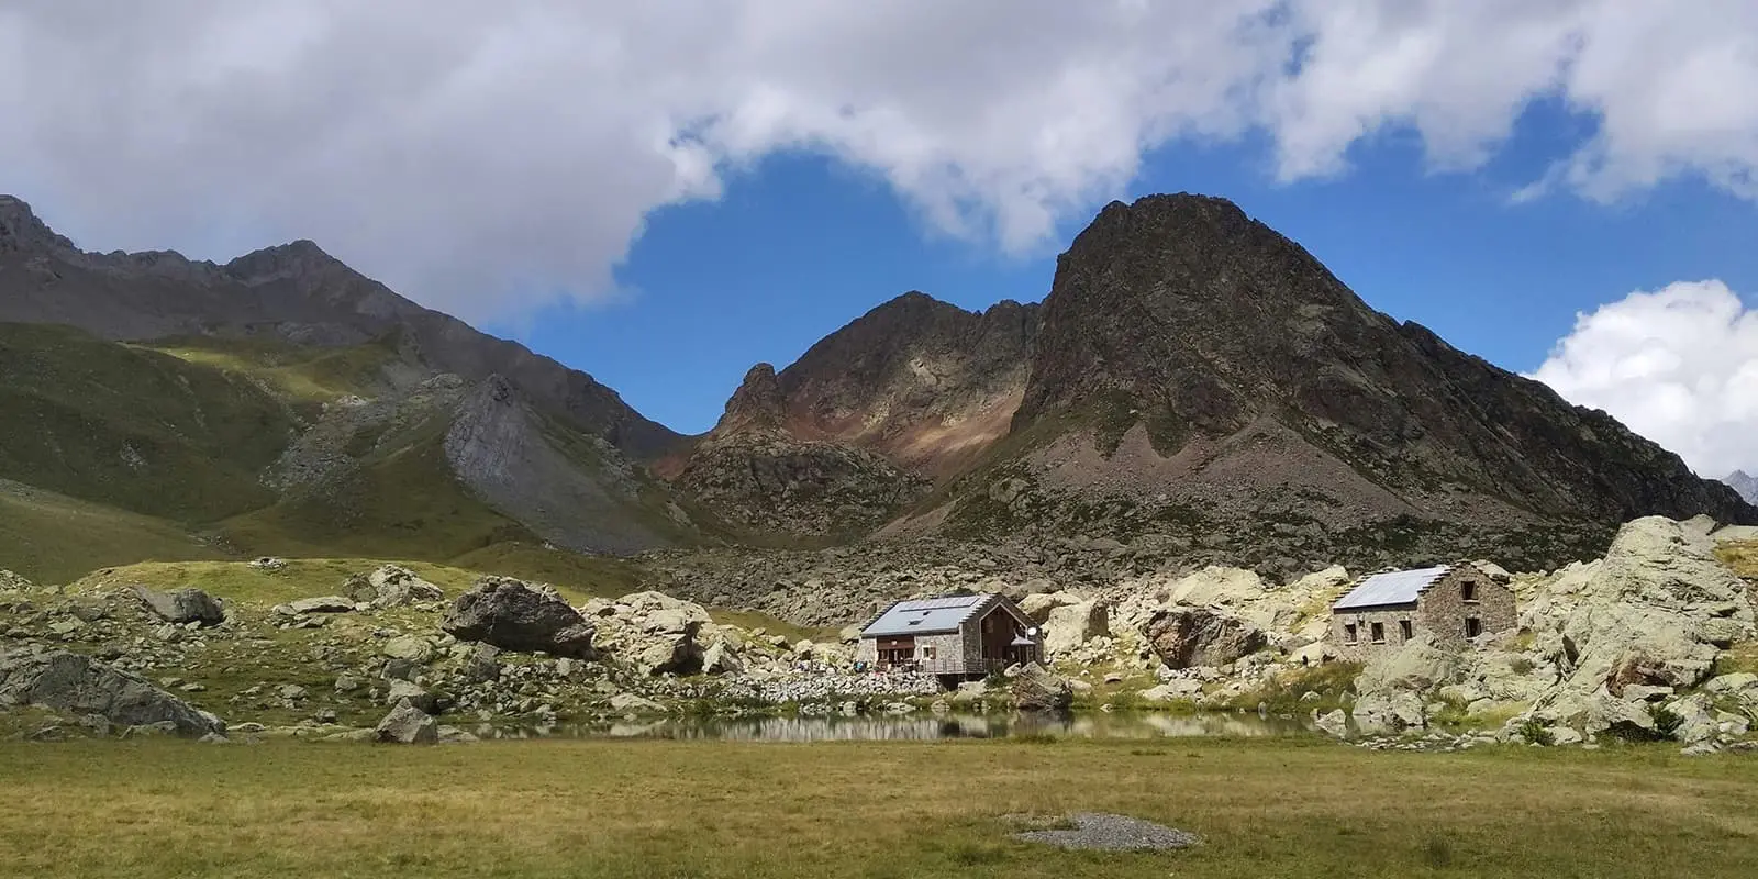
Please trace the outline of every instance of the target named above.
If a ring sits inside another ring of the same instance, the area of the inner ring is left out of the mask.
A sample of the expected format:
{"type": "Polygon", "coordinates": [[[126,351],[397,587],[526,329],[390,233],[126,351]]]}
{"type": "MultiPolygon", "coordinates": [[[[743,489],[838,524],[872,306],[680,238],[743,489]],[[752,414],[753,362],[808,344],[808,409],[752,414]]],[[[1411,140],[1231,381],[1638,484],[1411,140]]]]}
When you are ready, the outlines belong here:
{"type": "Polygon", "coordinates": [[[1566,556],[1645,513],[1758,517],[1609,415],[1373,311],[1224,199],[1108,206],[1041,322],[1007,454],[895,533],[1181,531],[1445,561],[1507,541],[1566,556]]]}

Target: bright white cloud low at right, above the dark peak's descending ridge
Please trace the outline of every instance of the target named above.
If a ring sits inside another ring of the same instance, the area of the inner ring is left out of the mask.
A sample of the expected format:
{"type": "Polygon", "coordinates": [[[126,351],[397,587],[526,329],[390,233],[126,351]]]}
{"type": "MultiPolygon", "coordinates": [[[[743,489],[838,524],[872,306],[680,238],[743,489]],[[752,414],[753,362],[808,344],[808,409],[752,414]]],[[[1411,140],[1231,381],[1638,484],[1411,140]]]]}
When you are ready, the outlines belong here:
{"type": "Polygon", "coordinates": [[[1533,378],[1612,413],[1698,475],[1758,473],[1758,309],[1721,281],[1679,281],[1580,315],[1533,378]]]}

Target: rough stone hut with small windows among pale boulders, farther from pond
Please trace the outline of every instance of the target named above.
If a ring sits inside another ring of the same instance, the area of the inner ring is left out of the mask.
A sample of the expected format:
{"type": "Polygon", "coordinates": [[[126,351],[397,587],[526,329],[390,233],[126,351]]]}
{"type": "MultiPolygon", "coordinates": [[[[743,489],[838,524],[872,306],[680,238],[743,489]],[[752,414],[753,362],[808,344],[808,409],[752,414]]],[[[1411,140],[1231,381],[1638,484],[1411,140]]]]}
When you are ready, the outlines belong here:
{"type": "Polygon", "coordinates": [[[1464,649],[1515,626],[1514,591],[1475,564],[1377,573],[1331,605],[1331,642],[1357,656],[1422,635],[1464,649]]]}

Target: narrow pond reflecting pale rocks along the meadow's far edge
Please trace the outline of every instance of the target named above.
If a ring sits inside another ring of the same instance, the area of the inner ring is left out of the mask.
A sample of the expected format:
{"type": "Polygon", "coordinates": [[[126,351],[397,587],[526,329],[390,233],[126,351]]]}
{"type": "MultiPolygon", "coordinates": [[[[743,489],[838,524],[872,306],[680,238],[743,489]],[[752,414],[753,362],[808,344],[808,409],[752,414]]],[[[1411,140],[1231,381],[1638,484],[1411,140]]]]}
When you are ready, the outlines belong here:
{"type": "Polygon", "coordinates": [[[861,717],[666,717],[643,723],[478,730],[496,738],[721,738],[730,742],[884,742],[939,738],[1259,738],[1301,735],[1297,719],[1259,714],[912,714],[861,717]]]}

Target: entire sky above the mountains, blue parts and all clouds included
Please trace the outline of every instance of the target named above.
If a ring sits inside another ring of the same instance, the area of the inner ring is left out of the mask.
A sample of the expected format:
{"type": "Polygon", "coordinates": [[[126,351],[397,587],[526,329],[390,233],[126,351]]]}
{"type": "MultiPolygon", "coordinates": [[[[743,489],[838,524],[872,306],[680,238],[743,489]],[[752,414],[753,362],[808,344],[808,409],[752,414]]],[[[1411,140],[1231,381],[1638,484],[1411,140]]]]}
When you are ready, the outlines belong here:
{"type": "Polygon", "coordinates": [[[1375,308],[1758,471],[1751,0],[5,0],[0,192],[318,241],[679,431],[905,290],[1225,195],[1375,308]]]}

